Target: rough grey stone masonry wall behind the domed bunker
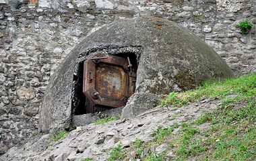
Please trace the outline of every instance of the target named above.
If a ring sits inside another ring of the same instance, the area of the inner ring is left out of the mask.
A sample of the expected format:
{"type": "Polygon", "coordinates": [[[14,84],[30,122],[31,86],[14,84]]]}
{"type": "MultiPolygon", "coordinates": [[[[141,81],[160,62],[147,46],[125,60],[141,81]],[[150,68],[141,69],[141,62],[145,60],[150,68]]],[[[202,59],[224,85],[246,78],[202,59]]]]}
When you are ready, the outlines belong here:
{"type": "Polygon", "coordinates": [[[212,46],[236,74],[256,72],[255,0],[0,3],[0,154],[36,133],[44,89],[69,51],[117,19],[148,14],[176,21],[212,46]],[[234,28],[244,19],[254,24],[246,35],[234,28]]]}

